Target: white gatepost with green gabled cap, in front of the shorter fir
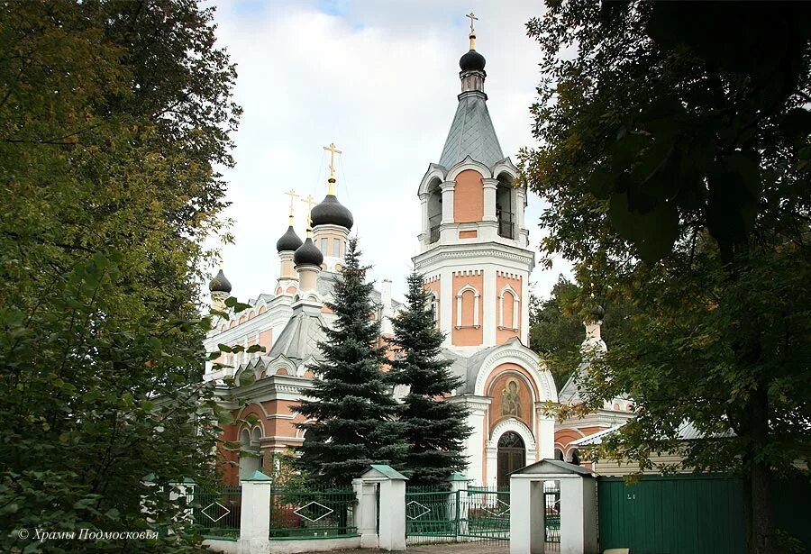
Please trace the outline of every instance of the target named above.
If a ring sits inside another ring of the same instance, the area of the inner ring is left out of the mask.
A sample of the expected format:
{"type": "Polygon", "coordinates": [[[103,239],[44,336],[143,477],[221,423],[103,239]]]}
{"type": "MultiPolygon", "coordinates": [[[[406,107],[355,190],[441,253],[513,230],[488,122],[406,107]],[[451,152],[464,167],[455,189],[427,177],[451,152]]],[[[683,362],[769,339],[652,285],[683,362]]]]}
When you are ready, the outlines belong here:
{"type": "Polygon", "coordinates": [[[378,484],[380,486],[378,548],[381,550],[405,550],[405,481],[407,479],[394,468],[384,464],[372,464],[360,476],[360,481],[364,485],[378,484]]]}

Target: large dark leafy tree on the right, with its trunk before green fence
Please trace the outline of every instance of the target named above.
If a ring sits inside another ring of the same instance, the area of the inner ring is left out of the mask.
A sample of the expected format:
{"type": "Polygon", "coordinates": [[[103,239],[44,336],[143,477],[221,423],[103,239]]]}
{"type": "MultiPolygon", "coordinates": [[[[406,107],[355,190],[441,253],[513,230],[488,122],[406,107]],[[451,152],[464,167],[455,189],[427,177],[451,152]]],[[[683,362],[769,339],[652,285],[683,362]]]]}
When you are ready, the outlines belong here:
{"type": "Polygon", "coordinates": [[[750,551],[775,552],[770,479],[811,446],[807,6],[556,2],[528,29],[543,247],[579,262],[579,306],[633,303],[588,377],[637,406],[609,450],[644,466],[693,422],[715,439],[686,462],[743,472],[750,551]]]}

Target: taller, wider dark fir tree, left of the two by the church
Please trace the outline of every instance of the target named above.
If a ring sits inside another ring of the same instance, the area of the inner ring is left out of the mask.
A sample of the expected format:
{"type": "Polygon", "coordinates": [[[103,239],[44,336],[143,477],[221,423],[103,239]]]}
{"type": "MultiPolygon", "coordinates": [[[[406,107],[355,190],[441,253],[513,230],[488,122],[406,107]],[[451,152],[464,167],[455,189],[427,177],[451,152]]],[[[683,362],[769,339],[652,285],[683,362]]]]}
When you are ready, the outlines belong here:
{"type": "Polygon", "coordinates": [[[327,340],[318,343],[323,361],[312,367],[314,400],[296,408],[312,420],[298,425],[307,431],[298,465],[319,483],[348,485],[369,464],[396,464],[405,452],[398,405],[381,369],[387,359],[380,322],[372,317],[376,305],[367,269],[360,265],[357,239],[351,239],[334,302],[326,304],[337,319],[333,328],[323,328],[327,340]]]}

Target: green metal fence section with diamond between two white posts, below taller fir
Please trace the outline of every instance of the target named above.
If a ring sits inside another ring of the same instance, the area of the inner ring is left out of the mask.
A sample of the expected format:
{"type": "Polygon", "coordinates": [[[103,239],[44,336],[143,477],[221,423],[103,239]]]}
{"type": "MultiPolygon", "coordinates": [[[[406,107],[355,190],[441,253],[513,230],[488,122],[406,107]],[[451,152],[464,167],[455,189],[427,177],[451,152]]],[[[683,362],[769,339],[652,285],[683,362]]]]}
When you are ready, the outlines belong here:
{"type": "Polygon", "coordinates": [[[356,536],[355,491],[351,488],[274,487],[270,495],[270,539],[330,539],[356,536]]]}

